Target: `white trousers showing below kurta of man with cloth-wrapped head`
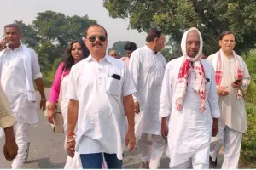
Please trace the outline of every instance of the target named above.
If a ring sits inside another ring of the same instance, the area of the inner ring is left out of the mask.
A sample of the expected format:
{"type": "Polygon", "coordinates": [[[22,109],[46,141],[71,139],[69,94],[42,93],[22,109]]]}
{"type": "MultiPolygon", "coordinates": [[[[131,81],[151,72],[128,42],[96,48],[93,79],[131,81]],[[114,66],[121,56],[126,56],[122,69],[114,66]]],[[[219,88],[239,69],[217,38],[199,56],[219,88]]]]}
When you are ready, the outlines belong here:
{"type": "Polygon", "coordinates": [[[189,161],[186,161],[184,163],[181,163],[175,166],[171,166],[171,163],[170,163],[170,168],[171,169],[189,169],[189,167],[191,166],[191,162],[192,162],[193,169],[209,169],[209,164],[204,164],[199,161],[195,161],[194,158],[190,158],[189,161]]]}

